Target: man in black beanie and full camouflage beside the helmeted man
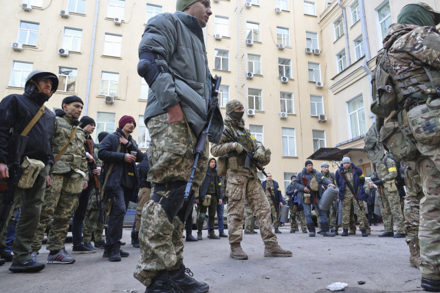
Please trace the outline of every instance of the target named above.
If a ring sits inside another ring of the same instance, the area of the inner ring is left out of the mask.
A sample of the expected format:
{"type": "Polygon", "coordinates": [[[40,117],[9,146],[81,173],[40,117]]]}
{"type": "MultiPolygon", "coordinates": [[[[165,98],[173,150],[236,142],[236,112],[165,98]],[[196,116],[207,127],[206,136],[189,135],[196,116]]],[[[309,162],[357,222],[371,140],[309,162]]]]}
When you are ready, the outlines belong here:
{"type": "Polygon", "coordinates": [[[47,223],[53,218],[54,222],[48,235],[50,244],[46,246],[46,249],[50,250],[47,263],[75,262],[75,259],[65,252],[64,241],[70,217],[78,204],[78,194],[87,188],[89,179],[84,148],[85,136],[78,126],[78,118],[83,112],[83,100],[76,96],[66,97],[63,99],[62,107],[63,110],[55,111],[56,126],[52,149],[56,163],[50,170],[51,184],[45,191],[40,222],[32,244],[32,251],[38,252],[43,245],[47,223]]]}

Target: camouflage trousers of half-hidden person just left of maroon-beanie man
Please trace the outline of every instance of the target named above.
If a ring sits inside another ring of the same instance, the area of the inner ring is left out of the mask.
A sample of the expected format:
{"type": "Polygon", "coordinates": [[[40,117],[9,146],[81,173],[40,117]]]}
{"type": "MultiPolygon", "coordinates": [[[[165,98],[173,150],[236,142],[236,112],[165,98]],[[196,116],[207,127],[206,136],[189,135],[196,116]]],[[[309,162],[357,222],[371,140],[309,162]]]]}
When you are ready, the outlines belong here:
{"type": "Polygon", "coordinates": [[[94,233],[94,242],[102,241],[102,232],[104,231],[104,223],[100,223],[99,202],[95,194],[92,194],[89,200],[89,207],[87,207],[87,214],[83,224],[83,242],[91,242],[91,233],[94,233]]]}

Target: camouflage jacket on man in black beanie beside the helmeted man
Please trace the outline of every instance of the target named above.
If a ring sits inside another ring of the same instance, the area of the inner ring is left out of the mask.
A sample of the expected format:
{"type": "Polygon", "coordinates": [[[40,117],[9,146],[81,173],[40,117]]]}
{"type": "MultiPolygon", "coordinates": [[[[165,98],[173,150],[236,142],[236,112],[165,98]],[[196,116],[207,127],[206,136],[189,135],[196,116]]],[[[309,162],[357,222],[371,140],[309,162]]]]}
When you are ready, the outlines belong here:
{"type": "MultiPolygon", "coordinates": [[[[55,134],[52,138],[52,150],[54,156],[65,147],[74,129],[74,117],[65,114],[63,117],[57,115],[55,124],[55,134]]],[[[65,174],[70,171],[80,170],[85,173],[85,180],[89,180],[87,161],[85,159],[84,148],[85,136],[80,127],[76,127],[74,139],[69,143],[69,147],[52,167],[51,174],[65,174]]]]}

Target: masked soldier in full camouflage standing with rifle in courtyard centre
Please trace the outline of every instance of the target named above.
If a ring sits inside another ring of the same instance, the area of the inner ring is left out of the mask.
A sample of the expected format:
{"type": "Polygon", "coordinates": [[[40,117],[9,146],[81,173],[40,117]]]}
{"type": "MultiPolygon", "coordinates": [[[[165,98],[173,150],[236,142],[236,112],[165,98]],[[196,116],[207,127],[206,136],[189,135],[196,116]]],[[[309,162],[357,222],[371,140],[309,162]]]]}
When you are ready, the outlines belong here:
{"type": "Polygon", "coordinates": [[[243,114],[243,104],[238,100],[232,100],[226,104],[225,129],[234,135],[240,143],[232,141],[223,132],[219,144],[213,144],[211,148],[211,153],[214,156],[228,156],[226,162],[219,160],[219,168],[221,168],[221,163],[226,164],[230,257],[233,259],[248,259],[248,255],[244,253],[240,245],[243,239],[245,198],[248,199],[256,219],[259,221],[261,238],[265,244],[264,256],[289,257],[292,256],[292,253],[278,246],[276,235],[272,233],[270,204],[256,174],[256,167],[251,164],[250,169],[244,168],[245,154],[243,154],[242,145],[253,152],[254,158],[258,161],[265,159],[265,148],[244,127],[243,114]]]}

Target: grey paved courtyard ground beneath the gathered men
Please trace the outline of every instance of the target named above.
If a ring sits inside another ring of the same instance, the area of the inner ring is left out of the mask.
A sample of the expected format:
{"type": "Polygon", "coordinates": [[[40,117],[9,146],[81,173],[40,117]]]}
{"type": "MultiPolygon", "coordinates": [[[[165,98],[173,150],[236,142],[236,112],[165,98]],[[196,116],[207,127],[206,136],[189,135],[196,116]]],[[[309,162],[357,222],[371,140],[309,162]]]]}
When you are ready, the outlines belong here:
{"type": "MultiPolygon", "coordinates": [[[[278,241],[294,253],[286,258],[263,257],[260,235],[245,235],[242,246],[249,255],[247,261],[230,259],[228,239],[204,239],[186,243],[184,262],[197,280],[210,285],[209,292],[330,292],[325,289],[327,285],[340,281],[349,284],[344,292],[421,291],[417,287],[421,275],[408,264],[405,240],[378,238],[383,226],[372,228],[369,237],[358,232],[349,237],[311,238],[303,233],[290,234],[283,227],[278,241]],[[358,281],[366,283],[358,285],[358,281]]],[[[203,237],[206,235],[203,231],[203,237]]],[[[140,251],[129,245],[129,229],[124,229],[123,239],[127,242],[123,250],[130,257],[120,263],[103,259],[103,250],[75,255],[73,265],[47,265],[35,274],[12,274],[8,271],[10,263],[6,263],[0,267],[0,292],[144,292],[144,285],[133,278],[140,251]]],[[[69,252],[71,246],[67,244],[69,252]]],[[[39,255],[42,262],[48,253],[44,248],[39,255]]]]}

